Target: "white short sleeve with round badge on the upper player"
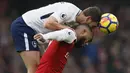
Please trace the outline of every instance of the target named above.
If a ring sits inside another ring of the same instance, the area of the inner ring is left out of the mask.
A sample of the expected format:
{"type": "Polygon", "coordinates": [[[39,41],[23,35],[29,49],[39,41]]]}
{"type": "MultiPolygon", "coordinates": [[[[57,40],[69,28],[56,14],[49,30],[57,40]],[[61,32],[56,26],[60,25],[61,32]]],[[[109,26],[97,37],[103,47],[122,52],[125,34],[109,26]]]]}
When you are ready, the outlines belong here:
{"type": "Polygon", "coordinates": [[[57,19],[59,23],[72,22],[75,21],[76,15],[78,15],[81,10],[73,4],[64,4],[51,16],[57,19]]]}

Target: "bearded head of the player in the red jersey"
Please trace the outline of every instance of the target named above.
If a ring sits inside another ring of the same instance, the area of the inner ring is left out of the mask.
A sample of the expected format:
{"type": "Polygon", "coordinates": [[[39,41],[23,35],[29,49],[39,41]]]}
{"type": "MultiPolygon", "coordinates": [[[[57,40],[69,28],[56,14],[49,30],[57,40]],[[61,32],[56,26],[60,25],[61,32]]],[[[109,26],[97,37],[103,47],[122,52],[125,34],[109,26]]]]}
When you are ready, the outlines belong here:
{"type": "Polygon", "coordinates": [[[77,42],[75,43],[76,47],[81,47],[92,41],[93,33],[88,25],[81,24],[73,26],[72,28],[75,29],[77,35],[77,42]]]}

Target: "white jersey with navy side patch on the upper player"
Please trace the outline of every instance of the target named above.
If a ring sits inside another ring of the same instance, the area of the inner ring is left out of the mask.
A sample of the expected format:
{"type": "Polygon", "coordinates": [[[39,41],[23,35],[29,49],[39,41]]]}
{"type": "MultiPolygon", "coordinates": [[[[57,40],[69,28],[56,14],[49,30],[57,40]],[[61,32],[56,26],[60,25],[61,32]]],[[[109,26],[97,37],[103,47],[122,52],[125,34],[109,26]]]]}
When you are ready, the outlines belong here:
{"type": "Polygon", "coordinates": [[[47,33],[51,30],[45,28],[44,21],[49,16],[53,16],[57,19],[58,23],[66,23],[76,21],[76,15],[81,10],[74,4],[67,2],[58,2],[47,5],[38,9],[30,10],[22,15],[25,23],[34,29],[36,32],[47,33]]]}

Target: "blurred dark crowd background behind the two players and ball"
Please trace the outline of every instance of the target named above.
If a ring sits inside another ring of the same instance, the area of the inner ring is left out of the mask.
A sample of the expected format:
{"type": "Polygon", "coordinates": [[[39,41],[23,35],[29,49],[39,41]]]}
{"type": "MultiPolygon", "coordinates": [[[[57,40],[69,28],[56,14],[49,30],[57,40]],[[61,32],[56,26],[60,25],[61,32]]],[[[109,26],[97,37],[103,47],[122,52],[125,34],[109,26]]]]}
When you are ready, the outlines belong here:
{"type": "MultiPolygon", "coordinates": [[[[12,20],[24,12],[61,0],[0,0],[0,73],[26,73],[14,49],[10,33],[12,20]]],[[[94,41],[75,48],[63,73],[130,73],[130,2],[128,0],[64,0],[84,9],[99,6],[115,14],[120,22],[117,32],[105,36],[95,30],[94,41]]]]}

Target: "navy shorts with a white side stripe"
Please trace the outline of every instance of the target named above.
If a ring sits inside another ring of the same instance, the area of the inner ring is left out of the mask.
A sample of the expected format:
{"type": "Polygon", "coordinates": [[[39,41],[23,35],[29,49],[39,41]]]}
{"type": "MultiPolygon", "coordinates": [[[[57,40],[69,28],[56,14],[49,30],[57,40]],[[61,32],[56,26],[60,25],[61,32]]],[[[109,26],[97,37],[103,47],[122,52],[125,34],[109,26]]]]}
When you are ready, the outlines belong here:
{"type": "Polygon", "coordinates": [[[11,33],[17,52],[39,51],[38,43],[33,39],[36,32],[27,26],[22,17],[17,18],[11,24],[11,33]]]}

